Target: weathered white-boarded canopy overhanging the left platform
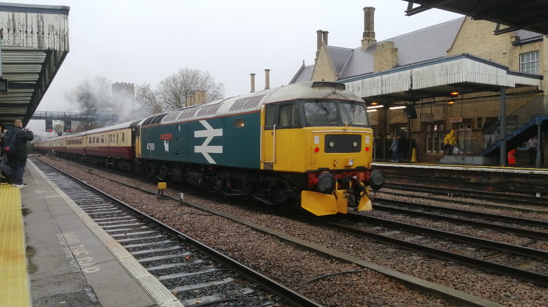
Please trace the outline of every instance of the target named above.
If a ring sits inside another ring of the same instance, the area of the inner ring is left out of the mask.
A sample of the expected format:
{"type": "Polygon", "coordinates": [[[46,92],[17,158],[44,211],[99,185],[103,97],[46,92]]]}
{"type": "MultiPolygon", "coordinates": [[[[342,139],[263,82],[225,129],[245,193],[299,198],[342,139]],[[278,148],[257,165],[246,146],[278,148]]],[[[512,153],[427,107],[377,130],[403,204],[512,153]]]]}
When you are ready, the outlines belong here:
{"type": "Polygon", "coordinates": [[[69,7],[0,3],[0,126],[36,111],[68,53],[69,7]]]}

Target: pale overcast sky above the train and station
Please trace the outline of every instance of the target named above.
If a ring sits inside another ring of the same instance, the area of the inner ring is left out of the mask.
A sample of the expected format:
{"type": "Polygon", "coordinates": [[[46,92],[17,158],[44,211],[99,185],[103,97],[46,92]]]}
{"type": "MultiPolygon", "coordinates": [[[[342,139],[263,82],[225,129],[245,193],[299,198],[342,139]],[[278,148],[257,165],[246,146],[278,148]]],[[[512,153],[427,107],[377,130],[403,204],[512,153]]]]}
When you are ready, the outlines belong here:
{"type": "MultiPolygon", "coordinates": [[[[65,92],[101,75],[112,82],[153,87],[179,68],[208,71],[225,84],[226,96],[286,85],[316,52],[316,30],[329,31],[329,45],[357,48],[363,7],[375,7],[375,33],[384,40],[459,18],[432,9],[405,16],[402,0],[34,0],[18,3],[67,5],[70,52],[39,111],[76,111],[65,92]]],[[[34,120],[33,120],[34,121],[34,120]]],[[[43,121],[41,121],[43,124],[43,121]]],[[[42,130],[43,128],[40,128],[42,130]]]]}

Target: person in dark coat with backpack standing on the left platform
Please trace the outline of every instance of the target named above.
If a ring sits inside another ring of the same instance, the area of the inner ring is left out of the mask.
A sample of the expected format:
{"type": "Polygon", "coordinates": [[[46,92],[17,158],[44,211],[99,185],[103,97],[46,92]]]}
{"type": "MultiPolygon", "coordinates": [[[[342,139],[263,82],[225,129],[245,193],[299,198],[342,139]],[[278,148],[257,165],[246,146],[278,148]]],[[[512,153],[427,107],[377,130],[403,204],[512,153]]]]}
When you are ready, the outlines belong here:
{"type": "Polygon", "coordinates": [[[20,119],[16,119],[13,128],[6,132],[6,140],[10,135],[15,134],[14,152],[8,153],[8,165],[12,168],[10,176],[10,182],[12,186],[24,188],[28,184],[23,183],[23,174],[25,173],[25,166],[27,164],[27,141],[34,139],[34,134],[30,129],[22,130],[23,122],[20,119]]]}

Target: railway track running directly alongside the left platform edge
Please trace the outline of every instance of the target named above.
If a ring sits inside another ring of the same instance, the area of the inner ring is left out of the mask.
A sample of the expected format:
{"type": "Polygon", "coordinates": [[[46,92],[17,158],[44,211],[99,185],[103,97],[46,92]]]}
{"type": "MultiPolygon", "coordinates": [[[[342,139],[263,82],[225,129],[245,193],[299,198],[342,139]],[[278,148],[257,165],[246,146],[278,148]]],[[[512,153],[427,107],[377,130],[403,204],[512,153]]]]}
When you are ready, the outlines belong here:
{"type": "Polygon", "coordinates": [[[37,164],[38,167],[184,306],[227,302],[250,307],[321,306],[44,161],[42,163],[37,164]]]}

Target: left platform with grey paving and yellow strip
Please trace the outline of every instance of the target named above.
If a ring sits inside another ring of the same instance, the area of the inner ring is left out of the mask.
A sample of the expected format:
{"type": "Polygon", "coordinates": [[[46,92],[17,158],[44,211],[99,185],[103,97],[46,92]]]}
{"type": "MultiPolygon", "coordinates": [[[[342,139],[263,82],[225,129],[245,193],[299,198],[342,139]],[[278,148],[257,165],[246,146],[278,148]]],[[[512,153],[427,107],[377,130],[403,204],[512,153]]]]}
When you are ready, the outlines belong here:
{"type": "Polygon", "coordinates": [[[0,306],[182,306],[44,173],[0,186],[0,306]]]}

